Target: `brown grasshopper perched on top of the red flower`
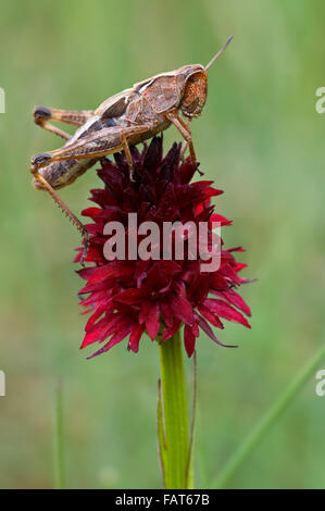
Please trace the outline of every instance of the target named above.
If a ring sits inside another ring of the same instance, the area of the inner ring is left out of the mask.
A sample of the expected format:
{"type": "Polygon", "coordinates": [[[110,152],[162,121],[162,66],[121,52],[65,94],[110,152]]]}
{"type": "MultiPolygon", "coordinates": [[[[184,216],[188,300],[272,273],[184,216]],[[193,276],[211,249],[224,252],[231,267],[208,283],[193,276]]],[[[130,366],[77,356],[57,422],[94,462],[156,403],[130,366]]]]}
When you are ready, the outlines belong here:
{"type": "Polygon", "coordinates": [[[64,138],[66,144],[54,151],[37,154],[32,159],[33,185],[47,190],[62,211],[86,238],[88,233],[70,211],[55,190],[72,184],[98,160],[124,150],[134,180],[133,159],[129,147],[139,144],[174,124],[188,146],[196,164],[196,153],[188,122],[200,115],[207,100],[207,71],[223,53],[233,36],[204,67],[201,64],[185,65],[176,71],[161,73],[134,85],[130,89],[108,98],[97,110],[68,111],[36,107],[35,123],[64,138]],[[78,126],[71,137],[49,124],[49,120],[78,126]]]}

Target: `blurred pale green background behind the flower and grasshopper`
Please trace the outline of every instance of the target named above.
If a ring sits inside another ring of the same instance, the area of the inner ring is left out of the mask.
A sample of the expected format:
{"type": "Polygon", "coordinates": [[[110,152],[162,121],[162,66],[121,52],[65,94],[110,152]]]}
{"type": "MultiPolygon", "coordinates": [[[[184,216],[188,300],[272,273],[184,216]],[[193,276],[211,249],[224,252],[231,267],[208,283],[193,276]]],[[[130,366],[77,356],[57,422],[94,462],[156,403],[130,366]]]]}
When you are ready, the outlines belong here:
{"type": "MultiPolygon", "coordinates": [[[[158,350],[126,342],[91,361],[72,260],[79,237],[30,186],[32,154],[60,147],[34,125],[35,104],[92,109],[104,98],[187,63],[205,64],[209,98],[192,123],[201,169],[242,245],[252,329],[227,325],[198,342],[197,486],[212,483],[277,396],[324,342],[324,136],[315,90],[325,86],[322,0],[0,0],[1,345],[0,486],[53,486],[54,388],[64,386],[68,487],[154,488],[158,350]]],[[[68,128],[67,128],[68,129],[68,128]]],[[[179,140],[173,127],[165,148],[179,140]]],[[[79,212],[95,170],[61,197],[79,212]]],[[[191,362],[186,361],[189,385],[191,362]]],[[[323,363],[325,369],[325,361],[323,363]]],[[[320,366],[322,369],[322,365],[320,366]]],[[[229,483],[315,488],[325,483],[325,397],[315,379],[229,483]]]]}

